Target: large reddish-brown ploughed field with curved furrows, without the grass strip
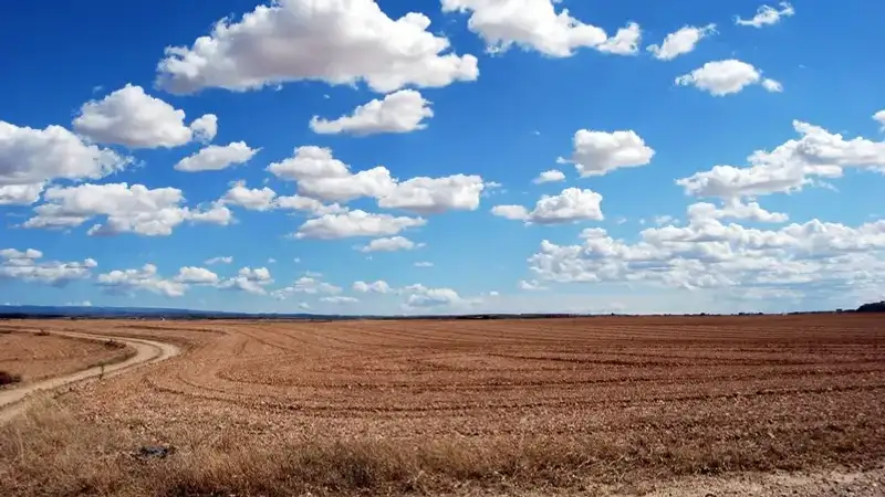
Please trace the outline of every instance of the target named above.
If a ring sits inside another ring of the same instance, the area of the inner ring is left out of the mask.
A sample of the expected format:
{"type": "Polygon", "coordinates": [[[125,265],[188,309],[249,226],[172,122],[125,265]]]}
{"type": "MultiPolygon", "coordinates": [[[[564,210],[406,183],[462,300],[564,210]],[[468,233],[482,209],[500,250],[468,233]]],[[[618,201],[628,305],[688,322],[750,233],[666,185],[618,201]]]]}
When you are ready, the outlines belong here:
{"type": "MultiPolygon", "coordinates": [[[[448,476],[544,485],[885,456],[876,316],[63,326],[187,345],[71,395],[79,417],[138,440],[436,444],[480,466],[448,476]]],[[[416,470],[446,476],[427,457],[416,470]]]]}

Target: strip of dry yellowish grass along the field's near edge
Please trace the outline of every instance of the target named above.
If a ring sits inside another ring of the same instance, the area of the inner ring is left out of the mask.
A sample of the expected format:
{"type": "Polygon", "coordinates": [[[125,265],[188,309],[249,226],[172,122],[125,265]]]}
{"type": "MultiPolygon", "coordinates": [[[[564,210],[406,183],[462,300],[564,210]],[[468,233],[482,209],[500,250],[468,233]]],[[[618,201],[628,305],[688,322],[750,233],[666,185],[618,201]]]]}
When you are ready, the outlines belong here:
{"type": "MultiPolygon", "coordinates": [[[[43,401],[0,426],[0,495],[272,497],[308,491],[445,494],[470,488],[582,493],[596,484],[799,469],[822,461],[820,453],[810,451],[814,447],[768,436],[759,436],[750,446],[680,434],[660,444],[649,443],[643,434],[613,438],[611,433],[577,438],[528,435],[471,441],[452,435],[434,441],[292,441],[285,434],[269,440],[208,425],[139,432],[124,423],[79,420],[58,401],[43,401]],[[165,458],[136,456],[140,447],[158,443],[173,445],[174,453],[165,458]]],[[[870,444],[881,442],[873,438],[836,441],[845,448],[845,461],[840,463],[851,462],[852,454],[870,453],[870,444]]],[[[833,447],[818,448],[830,452],[833,447]]]]}

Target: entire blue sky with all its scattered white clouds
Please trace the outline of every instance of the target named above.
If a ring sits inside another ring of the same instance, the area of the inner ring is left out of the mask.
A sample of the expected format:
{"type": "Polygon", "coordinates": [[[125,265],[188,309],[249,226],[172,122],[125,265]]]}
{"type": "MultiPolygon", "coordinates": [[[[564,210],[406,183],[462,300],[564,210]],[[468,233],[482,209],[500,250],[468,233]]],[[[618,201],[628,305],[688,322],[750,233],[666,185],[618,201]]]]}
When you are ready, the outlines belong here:
{"type": "Polygon", "coordinates": [[[4,6],[0,303],[883,297],[885,6],[312,3],[4,6]]]}

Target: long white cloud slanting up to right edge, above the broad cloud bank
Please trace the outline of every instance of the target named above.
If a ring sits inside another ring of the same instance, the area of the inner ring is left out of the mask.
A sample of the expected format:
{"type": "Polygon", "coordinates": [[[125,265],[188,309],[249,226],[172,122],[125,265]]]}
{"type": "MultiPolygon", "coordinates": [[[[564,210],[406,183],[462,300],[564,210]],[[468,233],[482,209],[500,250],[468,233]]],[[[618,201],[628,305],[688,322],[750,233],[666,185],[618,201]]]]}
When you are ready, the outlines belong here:
{"type": "Polygon", "coordinates": [[[885,169],[885,141],[842,135],[799,120],[793,128],[801,135],[771,151],[757,150],[749,166],[715,166],[676,181],[696,197],[764,195],[796,191],[821,178],[839,178],[845,168],[885,169]]]}

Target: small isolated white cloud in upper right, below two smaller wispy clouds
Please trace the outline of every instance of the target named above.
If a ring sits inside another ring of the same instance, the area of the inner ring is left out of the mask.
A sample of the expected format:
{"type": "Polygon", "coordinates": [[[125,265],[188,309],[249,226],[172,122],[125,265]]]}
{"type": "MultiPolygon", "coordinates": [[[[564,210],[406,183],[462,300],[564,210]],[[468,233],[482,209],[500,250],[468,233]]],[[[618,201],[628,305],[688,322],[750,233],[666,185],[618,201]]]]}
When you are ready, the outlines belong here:
{"type": "Polygon", "coordinates": [[[762,72],[737,59],[708,62],[702,66],[676,78],[679,86],[695,86],[714,96],[731,95],[749,85],[760,84],[769,92],[781,92],[783,86],[762,72]]]}

